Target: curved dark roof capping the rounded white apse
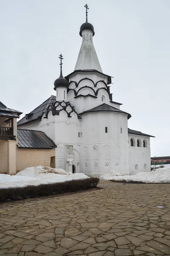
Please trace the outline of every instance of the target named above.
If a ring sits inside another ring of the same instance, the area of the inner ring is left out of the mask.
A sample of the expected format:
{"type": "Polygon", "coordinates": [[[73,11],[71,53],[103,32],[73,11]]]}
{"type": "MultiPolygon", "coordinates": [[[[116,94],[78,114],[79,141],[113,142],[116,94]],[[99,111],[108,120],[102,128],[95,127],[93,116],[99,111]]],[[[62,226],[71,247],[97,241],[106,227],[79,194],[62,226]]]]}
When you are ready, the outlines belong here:
{"type": "Polygon", "coordinates": [[[97,112],[97,111],[113,111],[113,112],[119,112],[119,113],[124,113],[127,114],[127,118],[129,119],[131,117],[131,115],[125,111],[122,111],[118,108],[114,108],[113,106],[110,106],[106,103],[103,103],[102,105],[99,105],[95,108],[91,108],[87,111],[83,111],[82,113],[79,113],[79,115],[82,115],[84,113],[89,113],[89,112],[97,112]]]}

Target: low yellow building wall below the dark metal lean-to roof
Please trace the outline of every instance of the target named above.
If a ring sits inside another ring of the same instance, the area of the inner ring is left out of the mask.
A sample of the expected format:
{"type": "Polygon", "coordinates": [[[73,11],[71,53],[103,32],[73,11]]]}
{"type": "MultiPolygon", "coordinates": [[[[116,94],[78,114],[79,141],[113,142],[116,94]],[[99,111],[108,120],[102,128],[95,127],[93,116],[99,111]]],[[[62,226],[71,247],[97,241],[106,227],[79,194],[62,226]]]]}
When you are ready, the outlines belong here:
{"type": "Polygon", "coordinates": [[[55,155],[53,149],[36,149],[36,148],[18,148],[16,150],[17,171],[22,171],[27,167],[44,166],[50,167],[51,157],[55,155]]]}

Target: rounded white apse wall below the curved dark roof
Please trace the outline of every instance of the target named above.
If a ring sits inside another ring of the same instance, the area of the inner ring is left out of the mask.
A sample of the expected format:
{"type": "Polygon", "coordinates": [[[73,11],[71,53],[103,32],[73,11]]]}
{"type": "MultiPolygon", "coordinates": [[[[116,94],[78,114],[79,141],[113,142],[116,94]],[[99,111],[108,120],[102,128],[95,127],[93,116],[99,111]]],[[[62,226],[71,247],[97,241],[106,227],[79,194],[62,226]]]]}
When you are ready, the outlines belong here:
{"type": "Polygon", "coordinates": [[[96,112],[82,115],[80,169],[87,175],[110,170],[129,173],[127,115],[96,112]],[[108,128],[108,133],[105,132],[108,128]],[[121,134],[122,128],[122,134],[121,134]]]}

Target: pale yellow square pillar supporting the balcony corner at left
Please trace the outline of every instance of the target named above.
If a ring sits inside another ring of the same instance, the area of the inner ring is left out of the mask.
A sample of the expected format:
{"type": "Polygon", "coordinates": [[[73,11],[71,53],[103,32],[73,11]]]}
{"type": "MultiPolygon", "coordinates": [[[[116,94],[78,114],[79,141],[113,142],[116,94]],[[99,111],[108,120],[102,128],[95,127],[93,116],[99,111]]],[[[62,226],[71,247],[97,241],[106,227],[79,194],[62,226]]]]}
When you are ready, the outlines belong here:
{"type": "Polygon", "coordinates": [[[16,174],[16,140],[7,141],[7,157],[7,174],[14,175],[16,174]]]}

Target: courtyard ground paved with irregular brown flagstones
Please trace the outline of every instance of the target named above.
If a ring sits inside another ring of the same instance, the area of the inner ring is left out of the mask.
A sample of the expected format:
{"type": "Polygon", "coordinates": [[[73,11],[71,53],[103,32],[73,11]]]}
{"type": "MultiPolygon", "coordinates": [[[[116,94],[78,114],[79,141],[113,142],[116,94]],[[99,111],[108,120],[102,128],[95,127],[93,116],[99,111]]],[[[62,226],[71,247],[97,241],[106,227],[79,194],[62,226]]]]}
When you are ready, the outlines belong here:
{"type": "Polygon", "coordinates": [[[170,255],[170,184],[100,184],[1,204],[0,256],[170,255]]]}

